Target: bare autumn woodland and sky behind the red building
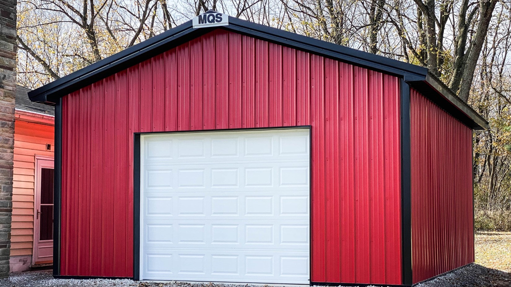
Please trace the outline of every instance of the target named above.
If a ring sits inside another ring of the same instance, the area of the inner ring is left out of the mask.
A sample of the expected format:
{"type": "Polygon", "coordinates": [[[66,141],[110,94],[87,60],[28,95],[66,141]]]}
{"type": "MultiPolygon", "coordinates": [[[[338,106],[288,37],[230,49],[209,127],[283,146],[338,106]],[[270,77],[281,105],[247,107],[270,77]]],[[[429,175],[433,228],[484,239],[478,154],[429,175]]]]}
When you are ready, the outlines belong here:
{"type": "Polygon", "coordinates": [[[18,82],[48,83],[210,9],[428,67],[490,121],[489,131],[474,136],[478,212],[485,212],[483,219],[502,210],[511,214],[511,8],[506,2],[20,0],[18,82]]]}

